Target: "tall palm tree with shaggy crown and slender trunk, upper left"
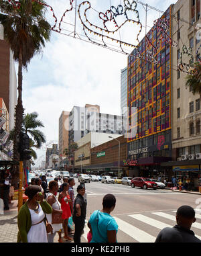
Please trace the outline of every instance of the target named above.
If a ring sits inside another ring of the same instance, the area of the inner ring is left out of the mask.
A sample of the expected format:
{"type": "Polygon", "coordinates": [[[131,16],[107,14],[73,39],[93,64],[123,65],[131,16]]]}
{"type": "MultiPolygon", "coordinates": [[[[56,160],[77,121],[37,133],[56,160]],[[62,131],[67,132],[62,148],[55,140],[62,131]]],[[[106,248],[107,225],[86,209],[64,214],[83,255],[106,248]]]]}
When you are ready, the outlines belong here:
{"type": "Polygon", "coordinates": [[[18,99],[13,146],[13,159],[17,161],[19,152],[16,138],[21,132],[23,122],[22,69],[27,69],[27,64],[34,54],[41,52],[45,42],[50,40],[51,26],[44,17],[46,7],[43,0],[38,2],[19,0],[19,8],[13,8],[8,1],[0,1],[0,23],[4,27],[5,39],[13,51],[13,57],[18,62],[18,99]]]}

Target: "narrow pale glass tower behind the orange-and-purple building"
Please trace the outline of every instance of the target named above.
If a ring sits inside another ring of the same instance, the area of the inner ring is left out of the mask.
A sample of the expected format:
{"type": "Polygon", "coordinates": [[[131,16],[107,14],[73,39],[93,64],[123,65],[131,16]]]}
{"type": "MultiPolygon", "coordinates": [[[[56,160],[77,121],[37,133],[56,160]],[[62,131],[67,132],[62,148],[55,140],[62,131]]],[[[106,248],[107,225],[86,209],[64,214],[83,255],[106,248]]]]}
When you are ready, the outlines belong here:
{"type": "Polygon", "coordinates": [[[121,69],[121,114],[127,114],[125,113],[125,110],[127,110],[127,67],[125,69],[121,69]]]}

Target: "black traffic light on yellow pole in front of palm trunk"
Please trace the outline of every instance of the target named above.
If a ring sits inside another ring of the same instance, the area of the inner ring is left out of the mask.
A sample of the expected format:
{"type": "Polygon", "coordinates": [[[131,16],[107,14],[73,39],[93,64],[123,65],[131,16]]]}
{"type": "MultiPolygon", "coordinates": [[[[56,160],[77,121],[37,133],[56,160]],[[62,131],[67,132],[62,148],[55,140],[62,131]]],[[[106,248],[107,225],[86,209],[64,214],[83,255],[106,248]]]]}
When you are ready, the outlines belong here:
{"type": "Polygon", "coordinates": [[[31,159],[31,150],[29,149],[29,147],[29,136],[21,132],[19,136],[20,161],[31,159]]]}

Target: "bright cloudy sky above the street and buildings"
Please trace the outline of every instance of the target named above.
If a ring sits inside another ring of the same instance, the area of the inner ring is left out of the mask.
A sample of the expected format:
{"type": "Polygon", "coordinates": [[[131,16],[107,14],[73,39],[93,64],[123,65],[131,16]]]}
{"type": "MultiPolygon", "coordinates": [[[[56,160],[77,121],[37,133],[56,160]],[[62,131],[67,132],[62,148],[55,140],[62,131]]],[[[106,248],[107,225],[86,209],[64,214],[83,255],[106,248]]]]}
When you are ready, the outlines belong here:
{"type": "MultiPolygon", "coordinates": [[[[61,13],[64,13],[66,2],[68,1],[46,0],[46,3],[53,7],[57,17],[61,17],[61,13]]],[[[78,4],[80,2],[82,1],[77,0],[78,4]]],[[[141,0],[141,2],[165,11],[177,1],[141,0]]],[[[120,3],[123,4],[123,0],[91,0],[90,3],[97,11],[105,13],[110,4],[117,7],[120,3]]],[[[145,36],[145,11],[140,4],[137,4],[137,10],[139,10],[140,22],[143,24],[139,36],[141,40],[145,36]]],[[[88,13],[90,22],[100,25],[98,13],[94,10],[88,13]]],[[[159,12],[149,9],[147,31],[159,15],[159,12]]],[[[46,17],[50,24],[54,24],[50,10],[47,11],[46,17]]],[[[74,24],[74,9],[66,14],[64,21],[74,24]]],[[[63,23],[62,28],[72,32],[74,27],[69,24],[63,23]]],[[[66,30],[62,32],[66,33],[66,30]]],[[[83,34],[78,15],[76,31],[78,34],[83,34]]],[[[121,29],[121,39],[132,43],[136,40],[138,32],[139,28],[129,25],[121,29]]],[[[113,42],[109,44],[117,47],[113,42]]],[[[127,67],[125,54],[52,32],[50,42],[46,43],[42,54],[34,56],[27,71],[23,71],[25,114],[38,112],[38,118],[44,124],[41,130],[46,135],[46,144],[36,151],[38,159],[35,161],[35,167],[45,161],[47,146],[50,147],[52,142],[58,143],[58,120],[63,110],[70,112],[74,105],[84,107],[89,103],[100,105],[100,113],[121,114],[121,69],[125,67],[127,67]]]]}

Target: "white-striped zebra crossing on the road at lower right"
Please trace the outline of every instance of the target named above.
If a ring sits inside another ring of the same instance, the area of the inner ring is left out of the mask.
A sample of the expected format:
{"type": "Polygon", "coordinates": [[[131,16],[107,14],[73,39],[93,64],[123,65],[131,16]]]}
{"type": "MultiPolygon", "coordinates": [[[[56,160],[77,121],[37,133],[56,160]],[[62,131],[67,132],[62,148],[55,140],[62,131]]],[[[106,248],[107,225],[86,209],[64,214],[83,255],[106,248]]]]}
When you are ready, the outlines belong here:
{"type": "MultiPolygon", "coordinates": [[[[192,224],[192,230],[201,240],[201,211],[196,211],[196,222],[192,224]]],[[[114,216],[119,229],[117,241],[119,243],[154,243],[160,230],[165,227],[172,228],[176,225],[176,210],[144,212],[141,214],[128,214],[114,216]]],[[[87,224],[84,227],[82,243],[87,242],[87,224]]]]}

